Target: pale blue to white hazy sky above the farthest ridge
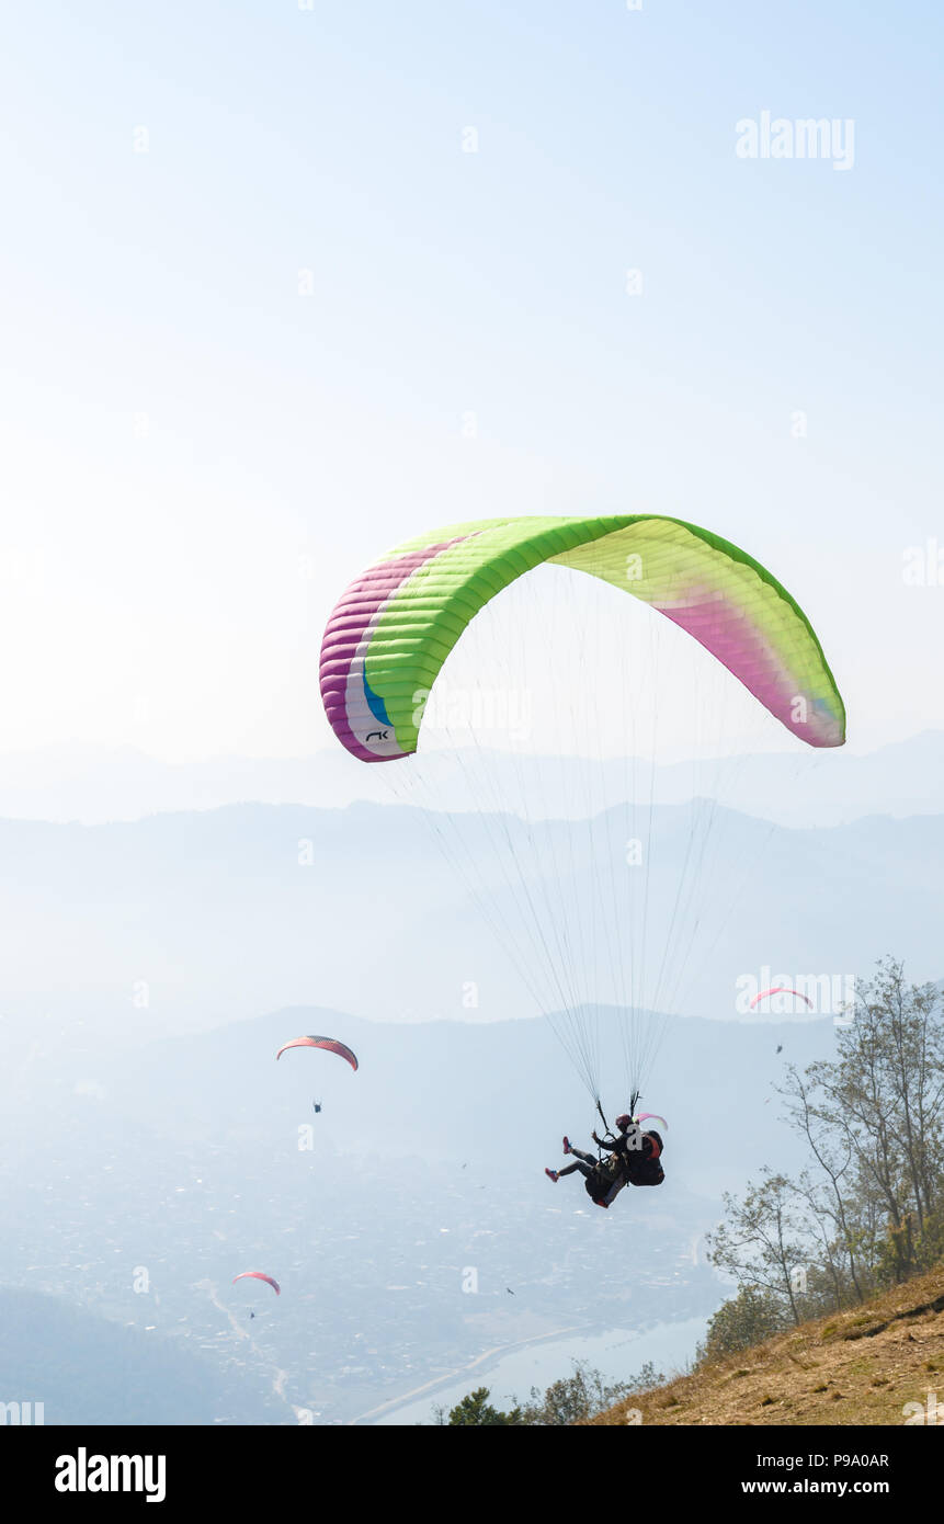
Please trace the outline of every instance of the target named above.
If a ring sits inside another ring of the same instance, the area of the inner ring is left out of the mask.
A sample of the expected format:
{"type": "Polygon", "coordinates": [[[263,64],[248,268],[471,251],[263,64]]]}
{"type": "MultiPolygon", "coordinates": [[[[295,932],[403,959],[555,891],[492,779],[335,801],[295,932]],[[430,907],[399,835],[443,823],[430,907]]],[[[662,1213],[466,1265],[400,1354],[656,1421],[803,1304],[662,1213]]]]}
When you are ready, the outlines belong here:
{"type": "Polygon", "coordinates": [[[944,727],[942,47],[862,0],[18,8],[2,747],[325,745],[345,581],[506,511],[705,523],[852,745],[944,727]],[[842,154],[740,157],[764,111],[842,154]]]}

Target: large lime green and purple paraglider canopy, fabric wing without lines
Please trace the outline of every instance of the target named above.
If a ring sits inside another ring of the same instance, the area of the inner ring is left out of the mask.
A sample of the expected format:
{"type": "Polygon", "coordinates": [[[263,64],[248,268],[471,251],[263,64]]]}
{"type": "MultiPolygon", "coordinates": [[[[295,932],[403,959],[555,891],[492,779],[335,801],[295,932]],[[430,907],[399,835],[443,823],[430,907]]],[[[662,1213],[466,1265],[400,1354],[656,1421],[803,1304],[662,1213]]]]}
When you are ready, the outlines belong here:
{"type": "Polygon", "coordinates": [[[813,626],[753,556],[680,518],[520,517],[450,524],[387,552],[348,587],[322,642],[328,721],[361,762],[416,751],[422,703],[470,620],[535,567],[584,572],[706,648],[811,747],[840,747],[845,709],[813,626]],[[631,567],[631,570],[628,570],[631,567]]]}

